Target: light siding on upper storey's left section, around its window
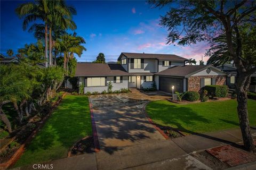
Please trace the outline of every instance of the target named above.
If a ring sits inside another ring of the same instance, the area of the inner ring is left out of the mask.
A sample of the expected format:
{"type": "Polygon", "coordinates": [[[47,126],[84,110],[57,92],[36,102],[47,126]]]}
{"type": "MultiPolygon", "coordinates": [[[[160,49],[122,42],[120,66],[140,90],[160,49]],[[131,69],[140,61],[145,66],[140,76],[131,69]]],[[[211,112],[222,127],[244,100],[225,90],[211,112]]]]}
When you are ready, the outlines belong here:
{"type": "Polygon", "coordinates": [[[131,69],[131,58],[129,58],[129,73],[155,73],[157,72],[156,60],[144,59],[143,69],[131,69]]]}

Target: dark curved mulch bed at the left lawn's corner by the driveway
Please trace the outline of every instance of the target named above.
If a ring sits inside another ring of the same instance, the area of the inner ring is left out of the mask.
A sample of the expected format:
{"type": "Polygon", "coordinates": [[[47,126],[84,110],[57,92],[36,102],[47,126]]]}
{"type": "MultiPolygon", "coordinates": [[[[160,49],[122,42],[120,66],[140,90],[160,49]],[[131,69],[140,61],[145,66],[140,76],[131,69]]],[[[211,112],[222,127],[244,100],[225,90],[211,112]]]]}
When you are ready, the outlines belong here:
{"type": "Polygon", "coordinates": [[[94,152],[94,140],[93,137],[85,137],[75,143],[73,147],[71,147],[68,157],[78,156],[82,154],[90,154],[94,152]]]}

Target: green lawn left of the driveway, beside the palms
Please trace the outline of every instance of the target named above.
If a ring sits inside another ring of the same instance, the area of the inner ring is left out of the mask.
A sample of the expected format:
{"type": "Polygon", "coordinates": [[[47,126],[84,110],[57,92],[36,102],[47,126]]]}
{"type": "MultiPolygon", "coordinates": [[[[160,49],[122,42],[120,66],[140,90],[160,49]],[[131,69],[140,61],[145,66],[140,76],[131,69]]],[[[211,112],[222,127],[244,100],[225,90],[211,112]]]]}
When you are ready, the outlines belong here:
{"type": "Polygon", "coordinates": [[[66,96],[42,130],[30,143],[15,167],[67,157],[69,148],[92,134],[86,96],[66,96]]]}

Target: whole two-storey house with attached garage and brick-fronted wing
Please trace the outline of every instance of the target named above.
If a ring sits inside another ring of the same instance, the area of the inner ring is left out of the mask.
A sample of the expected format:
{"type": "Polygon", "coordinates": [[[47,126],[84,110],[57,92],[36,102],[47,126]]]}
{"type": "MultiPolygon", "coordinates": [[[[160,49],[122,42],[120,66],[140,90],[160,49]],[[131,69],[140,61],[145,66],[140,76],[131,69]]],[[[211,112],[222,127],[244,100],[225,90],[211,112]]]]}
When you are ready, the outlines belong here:
{"type": "Polygon", "coordinates": [[[121,53],[120,64],[77,63],[76,77],[84,92],[122,88],[149,88],[171,92],[199,91],[208,84],[225,84],[226,73],[212,65],[185,65],[186,58],[172,54],[121,53]]]}

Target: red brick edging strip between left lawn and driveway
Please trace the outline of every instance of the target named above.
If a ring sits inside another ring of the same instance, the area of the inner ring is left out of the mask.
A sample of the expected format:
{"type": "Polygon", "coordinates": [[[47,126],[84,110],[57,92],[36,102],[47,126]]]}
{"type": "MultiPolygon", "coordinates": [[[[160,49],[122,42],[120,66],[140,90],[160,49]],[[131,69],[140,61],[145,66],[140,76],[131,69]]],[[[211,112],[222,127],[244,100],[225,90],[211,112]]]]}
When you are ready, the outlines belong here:
{"type": "Polygon", "coordinates": [[[90,114],[91,114],[91,120],[92,120],[92,133],[93,133],[93,141],[94,141],[94,151],[99,152],[100,151],[100,144],[99,144],[98,133],[97,133],[96,124],[95,124],[94,115],[93,115],[93,106],[92,106],[92,101],[91,101],[90,96],[89,96],[89,107],[90,107],[90,114]]]}

